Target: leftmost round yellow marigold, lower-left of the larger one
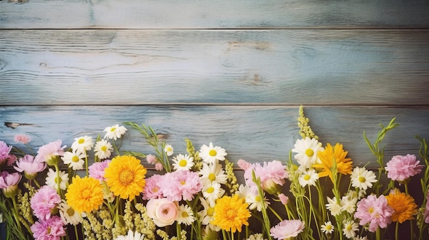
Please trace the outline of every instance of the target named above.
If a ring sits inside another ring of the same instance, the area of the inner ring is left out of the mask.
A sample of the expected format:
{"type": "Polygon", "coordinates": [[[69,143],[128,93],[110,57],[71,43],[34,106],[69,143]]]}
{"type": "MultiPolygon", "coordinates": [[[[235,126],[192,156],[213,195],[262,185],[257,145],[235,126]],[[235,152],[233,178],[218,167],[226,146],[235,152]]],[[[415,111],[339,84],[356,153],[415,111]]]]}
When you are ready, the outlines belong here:
{"type": "Polygon", "coordinates": [[[67,189],[66,200],[75,211],[89,213],[103,203],[103,187],[95,178],[75,176],[67,189]]]}

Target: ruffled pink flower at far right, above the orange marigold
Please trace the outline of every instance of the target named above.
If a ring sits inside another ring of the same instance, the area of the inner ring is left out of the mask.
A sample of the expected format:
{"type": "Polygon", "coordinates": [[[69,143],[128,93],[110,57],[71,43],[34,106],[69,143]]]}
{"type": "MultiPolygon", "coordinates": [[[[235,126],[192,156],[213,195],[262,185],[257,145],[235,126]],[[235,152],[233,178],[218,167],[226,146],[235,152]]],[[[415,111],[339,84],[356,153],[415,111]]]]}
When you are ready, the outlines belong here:
{"type": "Polygon", "coordinates": [[[410,176],[415,176],[421,172],[423,165],[418,165],[420,161],[416,161],[415,155],[393,156],[391,161],[387,162],[387,177],[393,181],[404,181],[410,176]]]}

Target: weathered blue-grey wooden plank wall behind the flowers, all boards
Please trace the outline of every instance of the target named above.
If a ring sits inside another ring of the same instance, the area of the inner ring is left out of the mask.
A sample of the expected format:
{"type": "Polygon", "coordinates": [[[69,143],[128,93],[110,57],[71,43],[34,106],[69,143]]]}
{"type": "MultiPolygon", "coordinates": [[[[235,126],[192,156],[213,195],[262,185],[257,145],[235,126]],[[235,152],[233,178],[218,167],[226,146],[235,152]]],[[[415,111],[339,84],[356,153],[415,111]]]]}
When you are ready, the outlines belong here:
{"type": "MultiPolygon", "coordinates": [[[[149,124],[177,151],[285,160],[304,105],[356,164],[397,117],[386,157],[429,139],[429,2],[0,1],[0,138],[32,146],[149,124]],[[12,127],[14,126],[14,127],[12,127]]],[[[149,151],[129,131],[126,150],[149,151]]],[[[150,167],[150,166],[147,166],[150,167]]]]}

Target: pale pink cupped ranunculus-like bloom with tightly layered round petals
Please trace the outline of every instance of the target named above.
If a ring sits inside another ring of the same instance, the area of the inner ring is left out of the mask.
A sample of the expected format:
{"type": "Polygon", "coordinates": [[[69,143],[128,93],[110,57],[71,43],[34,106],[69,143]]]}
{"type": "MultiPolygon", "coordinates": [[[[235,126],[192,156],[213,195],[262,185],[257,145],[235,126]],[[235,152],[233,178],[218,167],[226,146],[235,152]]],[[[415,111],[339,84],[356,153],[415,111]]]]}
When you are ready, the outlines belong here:
{"type": "Polygon", "coordinates": [[[147,215],[154,220],[158,227],[173,224],[179,215],[177,204],[167,198],[151,199],[146,205],[147,215]]]}

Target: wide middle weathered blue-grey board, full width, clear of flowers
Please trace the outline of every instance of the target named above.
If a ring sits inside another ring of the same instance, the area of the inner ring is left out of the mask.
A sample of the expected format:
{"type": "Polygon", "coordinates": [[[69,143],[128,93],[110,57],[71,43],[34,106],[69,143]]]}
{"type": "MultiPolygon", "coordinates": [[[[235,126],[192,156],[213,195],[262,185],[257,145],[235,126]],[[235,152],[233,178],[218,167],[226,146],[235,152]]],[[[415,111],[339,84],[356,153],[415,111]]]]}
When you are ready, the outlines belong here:
{"type": "Polygon", "coordinates": [[[428,105],[428,30],[2,30],[1,105],[428,105]]]}

